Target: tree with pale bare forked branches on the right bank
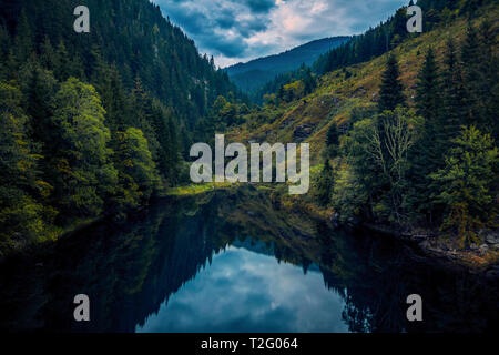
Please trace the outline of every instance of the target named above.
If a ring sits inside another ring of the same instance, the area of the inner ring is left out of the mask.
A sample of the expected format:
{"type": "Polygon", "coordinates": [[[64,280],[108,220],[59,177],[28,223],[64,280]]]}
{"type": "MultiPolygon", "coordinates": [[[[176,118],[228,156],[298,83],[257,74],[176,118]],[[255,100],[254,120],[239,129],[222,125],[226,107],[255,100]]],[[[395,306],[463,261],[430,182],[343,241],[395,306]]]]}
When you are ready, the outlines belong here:
{"type": "Polygon", "coordinates": [[[371,210],[364,213],[397,223],[407,219],[408,154],[419,139],[422,121],[413,109],[399,106],[355,123],[343,148],[349,174],[356,175],[357,194],[369,196],[364,203],[371,210]]]}

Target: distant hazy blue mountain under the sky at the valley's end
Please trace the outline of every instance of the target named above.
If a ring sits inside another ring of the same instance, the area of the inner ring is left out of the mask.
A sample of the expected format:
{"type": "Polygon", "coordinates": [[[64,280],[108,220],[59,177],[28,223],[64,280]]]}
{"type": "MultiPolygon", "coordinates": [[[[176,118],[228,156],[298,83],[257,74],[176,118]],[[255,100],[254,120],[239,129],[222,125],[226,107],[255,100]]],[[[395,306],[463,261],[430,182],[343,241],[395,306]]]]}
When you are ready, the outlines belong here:
{"type": "Polygon", "coordinates": [[[278,74],[313,64],[322,54],[347,42],[349,37],[332,37],[312,41],[281,54],[264,57],[247,63],[238,63],[224,71],[243,91],[252,92],[272,81],[278,74]]]}

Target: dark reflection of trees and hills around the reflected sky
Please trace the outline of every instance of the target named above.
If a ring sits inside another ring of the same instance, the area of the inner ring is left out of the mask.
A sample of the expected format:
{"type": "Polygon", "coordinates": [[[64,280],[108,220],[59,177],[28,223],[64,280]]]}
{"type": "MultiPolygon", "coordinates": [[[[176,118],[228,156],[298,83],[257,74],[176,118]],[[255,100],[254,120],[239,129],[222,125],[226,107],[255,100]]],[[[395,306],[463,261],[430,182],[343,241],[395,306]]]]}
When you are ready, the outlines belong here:
{"type": "Polygon", "coordinates": [[[485,332],[497,324],[497,280],[430,267],[390,239],[360,234],[277,209],[254,190],[164,201],[126,223],[101,223],[6,261],[0,328],[134,332],[230,245],[305,274],[319,271],[344,301],[350,332],[485,332]],[[72,318],[79,293],[90,296],[90,323],[72,318]],[[424,300],[421,323],[406,321],[413,293],[424,300]]]}

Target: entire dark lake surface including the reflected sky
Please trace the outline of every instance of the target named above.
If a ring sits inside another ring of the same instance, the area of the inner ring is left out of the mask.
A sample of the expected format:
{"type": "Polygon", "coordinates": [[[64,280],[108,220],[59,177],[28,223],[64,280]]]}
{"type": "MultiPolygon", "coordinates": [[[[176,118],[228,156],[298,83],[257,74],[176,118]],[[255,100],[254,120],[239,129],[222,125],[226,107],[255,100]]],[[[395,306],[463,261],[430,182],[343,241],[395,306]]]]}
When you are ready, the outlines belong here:
{"type": "Polygon", "coordinates": [[[492,332],[497,280],[416,262],[255,191],[165,201],[0,265],[8,332],[492,332]],[[406,320],[409,294],[424,322],[406,320]],[[91,322],[73,320],[86,294],[91,322]]]}

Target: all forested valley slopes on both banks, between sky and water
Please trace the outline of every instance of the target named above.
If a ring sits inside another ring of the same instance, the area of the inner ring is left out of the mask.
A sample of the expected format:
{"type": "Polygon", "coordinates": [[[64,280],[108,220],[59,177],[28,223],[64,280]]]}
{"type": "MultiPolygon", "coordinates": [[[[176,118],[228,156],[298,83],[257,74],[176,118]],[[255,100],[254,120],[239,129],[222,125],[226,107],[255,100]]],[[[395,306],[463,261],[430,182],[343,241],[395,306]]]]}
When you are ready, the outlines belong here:
{"type": "Polygon", "coordinates": [[[418,1],[426,32],[460,23],[426,45],[408,33],[401,8],[268,82],[254,103],[159,7],[88,4],[92,29],[79,34],[75,1],[2,0],[1,250],[123,217],[189,184],[190,146],[213,143],[215,132],[316,144],[318,173],[304,200],[340,222],[438,231],[461,247],[497,229],[493,1],[418,1]],[[417,67],[400,65],[415,47],[417,67]],[[377,78],[367,89],[366,63],[377,78]],[[367,91],[368,100],[358,97],[367,91]],[[326,98],[329,110],[315,102],[324,105],[325,92],[336,95],[326,98]],[[314,115],[320,123],[309,122],[314,115]],[[288,132],[294,118],[306,123],[288,132]]]}

